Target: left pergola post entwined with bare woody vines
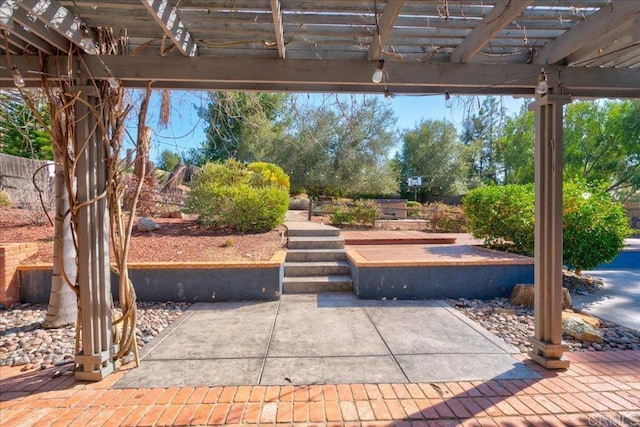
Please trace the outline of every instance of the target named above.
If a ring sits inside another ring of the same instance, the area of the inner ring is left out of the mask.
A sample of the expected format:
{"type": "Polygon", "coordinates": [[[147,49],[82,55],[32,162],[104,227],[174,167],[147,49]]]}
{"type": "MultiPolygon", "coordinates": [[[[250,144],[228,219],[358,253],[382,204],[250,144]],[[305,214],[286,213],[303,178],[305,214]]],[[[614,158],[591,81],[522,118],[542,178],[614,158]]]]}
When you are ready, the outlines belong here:
{"type": "Polygon", "coordinates": [[[100,111],[93,88],[82,88],[75,104],[75,152],[78,159],[78,285],[82,340],[76,378],[100,381],[114,370],[109,270],[109,216],[105,146],[88,105],[100,111]],[[85,102],[87,104],[85,104],[85,102]]]}

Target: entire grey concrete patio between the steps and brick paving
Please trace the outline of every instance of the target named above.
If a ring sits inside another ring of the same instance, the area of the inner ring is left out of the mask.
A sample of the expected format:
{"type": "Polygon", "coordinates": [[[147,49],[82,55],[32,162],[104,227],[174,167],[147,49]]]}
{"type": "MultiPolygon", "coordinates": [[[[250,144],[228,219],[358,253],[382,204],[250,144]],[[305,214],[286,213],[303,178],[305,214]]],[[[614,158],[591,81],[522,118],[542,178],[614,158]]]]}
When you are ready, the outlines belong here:
{"type": "Polygon", "coordinates": [[[116,387],[533,379],[518,350],[444,301],[350,293],[194,304],[116,387]]]}

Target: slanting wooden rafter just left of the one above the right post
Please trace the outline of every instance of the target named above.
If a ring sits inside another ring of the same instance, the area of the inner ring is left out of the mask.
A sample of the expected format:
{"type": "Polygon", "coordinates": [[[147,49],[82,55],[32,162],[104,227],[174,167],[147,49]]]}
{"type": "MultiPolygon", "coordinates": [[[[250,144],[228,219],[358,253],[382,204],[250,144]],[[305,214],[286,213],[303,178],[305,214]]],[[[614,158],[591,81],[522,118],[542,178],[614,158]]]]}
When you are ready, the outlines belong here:
{"type": "Polygon", "coordinates": [[[469,62],[498,32],[513,22],[532,0],[502,0],[478,22],[451,53],[451,62],[469,62]]]}

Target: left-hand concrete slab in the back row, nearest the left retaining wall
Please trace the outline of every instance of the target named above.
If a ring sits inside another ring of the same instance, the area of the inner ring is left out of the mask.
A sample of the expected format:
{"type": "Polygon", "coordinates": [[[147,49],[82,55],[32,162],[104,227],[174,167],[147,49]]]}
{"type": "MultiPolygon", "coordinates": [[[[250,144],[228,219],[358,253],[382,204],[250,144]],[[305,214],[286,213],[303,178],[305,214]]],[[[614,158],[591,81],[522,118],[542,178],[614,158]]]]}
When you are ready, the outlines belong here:
{"type": "Polygon", "coordinates": [[[199,303],[149,359],[264,357],[278,302],[199,303]],[[193,310],[193,311],[192,311],[193,310]]]}

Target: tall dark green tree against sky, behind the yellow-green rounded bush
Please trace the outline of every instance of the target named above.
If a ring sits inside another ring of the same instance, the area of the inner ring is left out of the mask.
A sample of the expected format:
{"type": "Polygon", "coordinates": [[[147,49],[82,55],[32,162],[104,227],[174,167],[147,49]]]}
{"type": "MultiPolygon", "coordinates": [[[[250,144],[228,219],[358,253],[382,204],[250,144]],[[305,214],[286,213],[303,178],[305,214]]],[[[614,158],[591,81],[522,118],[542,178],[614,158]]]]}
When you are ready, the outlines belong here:
{"type": "Polygon", "coordinates": [[[207,139],[200,150],[189,152],[189,160],[256,160],[260,144],[273,141],[286,127],[287,98],[279,93],[211,92],[207,106],[198,110],[207,139]]]}

